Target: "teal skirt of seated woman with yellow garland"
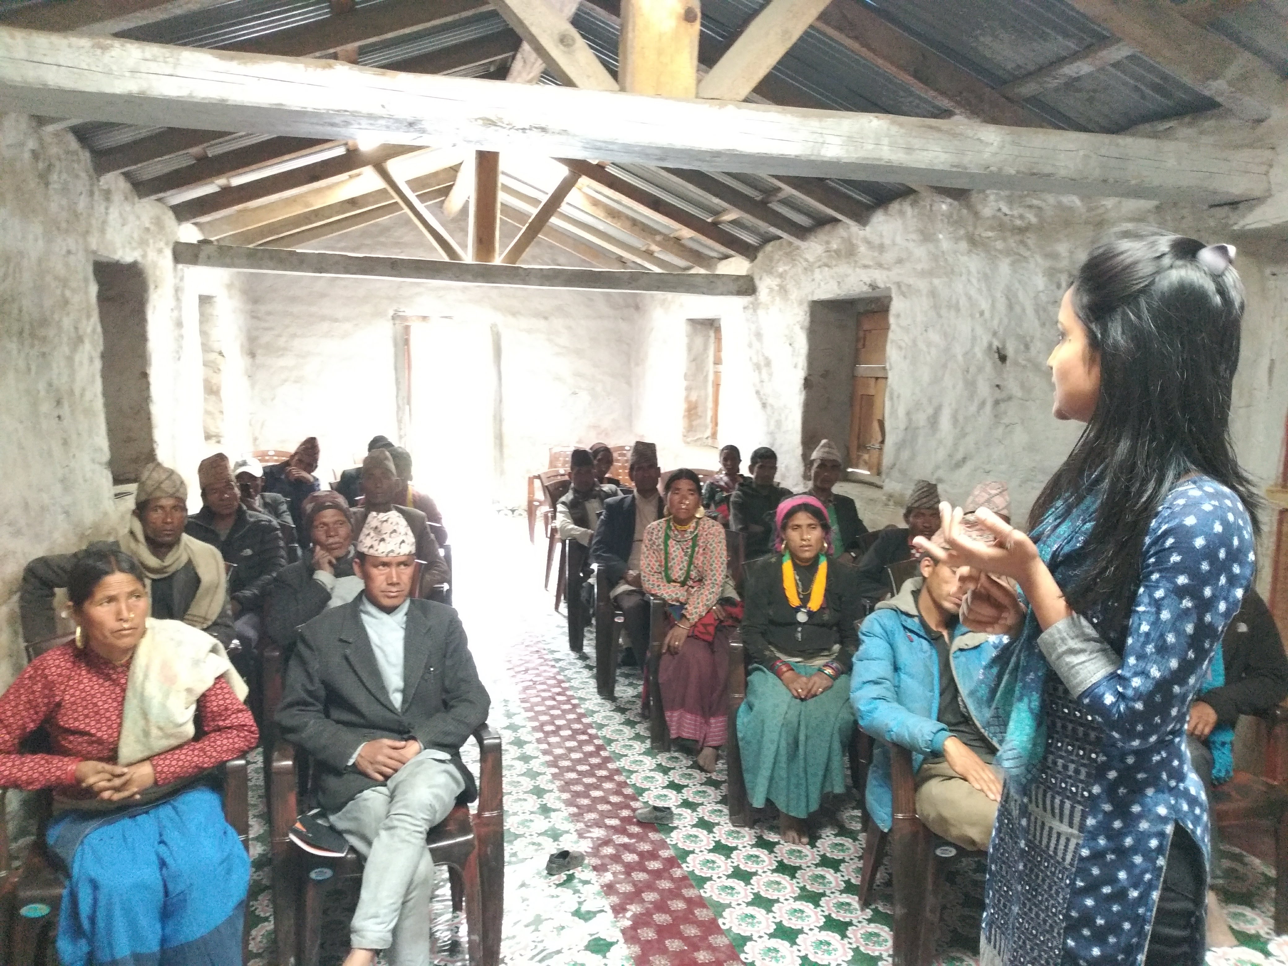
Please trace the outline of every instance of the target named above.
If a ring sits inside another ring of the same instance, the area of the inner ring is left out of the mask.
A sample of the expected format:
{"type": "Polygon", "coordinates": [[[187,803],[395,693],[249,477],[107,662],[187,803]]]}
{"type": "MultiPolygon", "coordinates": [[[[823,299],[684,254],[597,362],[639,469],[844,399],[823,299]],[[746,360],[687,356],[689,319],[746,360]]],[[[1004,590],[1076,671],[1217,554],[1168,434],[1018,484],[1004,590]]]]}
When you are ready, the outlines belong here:
{"type": "MultiPolygon", "coordinates": [[[[817,667],[790,663],[806,677],[818,674],[817,667]]],[[[801,701],[773,671],[752,665],[747,699],[738,708],[738,751],[751,804],[760,809],[768,799],[779,811],[809,818],[822,805],[823,792],[842,793],[854,726],[850,675],[801,701]]]]}

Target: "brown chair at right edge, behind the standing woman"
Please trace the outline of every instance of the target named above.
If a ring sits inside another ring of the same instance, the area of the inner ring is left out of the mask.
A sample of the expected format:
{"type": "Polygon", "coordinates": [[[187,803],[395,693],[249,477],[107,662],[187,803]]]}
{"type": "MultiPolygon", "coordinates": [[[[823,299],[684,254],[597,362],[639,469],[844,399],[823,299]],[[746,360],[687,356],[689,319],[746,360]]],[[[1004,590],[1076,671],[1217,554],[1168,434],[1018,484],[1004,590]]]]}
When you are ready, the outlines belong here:
{"type": "Polygon", "coordinates": [[[1257,741],[1265,748],[1262,775],[1235,772],[1212,790],[1212,822],[1218,829],[1270,819],[1275,829],[1275,933],[1288,933],[1288,706],[1257,715],[1257,741]]]}

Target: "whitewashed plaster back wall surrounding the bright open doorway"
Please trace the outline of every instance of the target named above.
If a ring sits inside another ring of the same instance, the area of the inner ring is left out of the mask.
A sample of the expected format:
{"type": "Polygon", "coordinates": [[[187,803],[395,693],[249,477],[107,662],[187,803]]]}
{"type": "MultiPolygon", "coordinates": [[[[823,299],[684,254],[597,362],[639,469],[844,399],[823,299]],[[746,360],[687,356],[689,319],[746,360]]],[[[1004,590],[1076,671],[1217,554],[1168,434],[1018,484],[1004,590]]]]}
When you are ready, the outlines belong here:
{"type": "MultiPolygon", "coordinates": [[[[367,243],[340,238],[346,249],[367,243]]],[[[330,250],[341,250],[339,240],[328,241],[330,250]]],[[[386,234],[377,241],[388,250],[386,234]]],[[[255,446],[294,446],[317,435],[323,479],[353,465],[372,435],[397,433],[394,313],[497,327],[502,502],[522,501],[526,478],[546,468],[549,447],[631,437],[634,295],[267,274],[246,276],[242,294],[255,446]]],[[[434,392],[433,372],[415,374],[413,394],[434,392]]],[[[444,395],[443,419],[469,404],[444,395]]],[[[420,462],[426,459],[419,455],[420,462]]]]}

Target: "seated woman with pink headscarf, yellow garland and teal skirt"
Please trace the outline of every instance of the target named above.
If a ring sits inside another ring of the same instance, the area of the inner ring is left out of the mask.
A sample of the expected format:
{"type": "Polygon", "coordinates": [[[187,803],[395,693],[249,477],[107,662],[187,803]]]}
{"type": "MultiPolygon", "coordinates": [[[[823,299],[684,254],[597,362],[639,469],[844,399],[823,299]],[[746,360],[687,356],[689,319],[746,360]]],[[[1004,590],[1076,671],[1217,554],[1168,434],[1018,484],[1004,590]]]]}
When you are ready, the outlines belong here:
{"type": "Polygon", "coordinates": [[[784,500],[775,523],[778,553],[748,563],[743,580],[742,640],[753,663],[738,748],[751,804],[772,801],[783,841],[808,842],[805,819],[823,793],[845,791],[859,596],[854,569],[828,563],[831,526],[818,500],[784,500]]]}

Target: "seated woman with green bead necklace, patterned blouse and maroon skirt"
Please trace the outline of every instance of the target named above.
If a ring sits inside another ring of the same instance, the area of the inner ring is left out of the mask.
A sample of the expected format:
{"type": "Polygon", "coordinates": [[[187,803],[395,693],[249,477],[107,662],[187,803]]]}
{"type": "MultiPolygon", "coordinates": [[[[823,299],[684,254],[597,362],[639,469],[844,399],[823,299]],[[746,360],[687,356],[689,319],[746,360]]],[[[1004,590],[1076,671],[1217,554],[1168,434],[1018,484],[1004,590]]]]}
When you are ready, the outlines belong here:
{"type": "Polygon", "coordinates": [[[696,742],[698,766],[714,772],[728,728],[732,626],[719,605],[726,571],[725,532],[702,515],[693,470],[672,473],[665,493],[666,516],[644,531],[640,551],[644,590],[667,603],[671,623],[658,687],[671,737],[696,742]]]}

